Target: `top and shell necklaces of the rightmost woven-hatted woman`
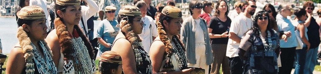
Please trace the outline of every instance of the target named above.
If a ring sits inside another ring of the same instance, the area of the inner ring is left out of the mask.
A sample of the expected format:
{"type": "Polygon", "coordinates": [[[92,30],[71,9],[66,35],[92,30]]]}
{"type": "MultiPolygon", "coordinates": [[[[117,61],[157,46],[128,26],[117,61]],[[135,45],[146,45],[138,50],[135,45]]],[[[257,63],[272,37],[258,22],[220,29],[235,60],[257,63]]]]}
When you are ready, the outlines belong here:
{"type": "Polygon", "coordinates": [[[176,39],[176,37],[174,36],[173,40],[171,41],[171,44],[173,45],[172,54],[169,55],[167,53],[164,53],[160,72],[179,71],[187,68],[185,51],[183,50],[179,42],[180,41],[178,41],[178,39],[176,39]],[[166,61],[168,60],[169,63],[166,63],[166,61]]]}

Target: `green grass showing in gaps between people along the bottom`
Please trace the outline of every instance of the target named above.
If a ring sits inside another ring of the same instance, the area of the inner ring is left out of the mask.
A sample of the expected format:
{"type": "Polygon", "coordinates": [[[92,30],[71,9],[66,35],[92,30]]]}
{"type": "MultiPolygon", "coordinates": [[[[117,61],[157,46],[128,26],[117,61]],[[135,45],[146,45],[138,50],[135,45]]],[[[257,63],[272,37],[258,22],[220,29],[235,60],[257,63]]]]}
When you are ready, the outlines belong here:
{"type": "MultiPolygon", "coordinates": [[[[7,60],[8,60],[8,58],[6,59],[6,61],[4,62],[4,65],[2,66],[2,68],[4,68],[4,69],[5,69],[7,60]]],[[[98,70],[98,63],[99,63],[99,59],[96,59],[96,60],[95,60],[96,72],[97,72],[97,74],[100,74],[100,72],[99,72],[99,70],[98,70]]],[[[316,66],[314,67],[314,70],[316,70],[316,71],[321,71],[321,66],[320,66],[320,65],[316,65],[316,66]]],[[[221,67],[221,69],[220,69],[220,73],[222,74],[222,67],[221,67]]],[[[3,70],[1,74],[5,74],[5,70],[3,70]]]]}

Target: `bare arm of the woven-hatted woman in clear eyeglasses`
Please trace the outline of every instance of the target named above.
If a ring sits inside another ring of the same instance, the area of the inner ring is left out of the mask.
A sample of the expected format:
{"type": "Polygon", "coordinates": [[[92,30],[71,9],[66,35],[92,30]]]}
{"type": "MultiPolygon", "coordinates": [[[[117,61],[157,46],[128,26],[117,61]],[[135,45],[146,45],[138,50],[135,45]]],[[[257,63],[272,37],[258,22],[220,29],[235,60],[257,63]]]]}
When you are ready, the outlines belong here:
{"type": "Polygon", "coordinates": [[[118,39],[114,43],[111,51],[115,51],[121,56],[124,74],[138,74],[136,71],[134,50],[128,40],[124,38],[118,39]]]}

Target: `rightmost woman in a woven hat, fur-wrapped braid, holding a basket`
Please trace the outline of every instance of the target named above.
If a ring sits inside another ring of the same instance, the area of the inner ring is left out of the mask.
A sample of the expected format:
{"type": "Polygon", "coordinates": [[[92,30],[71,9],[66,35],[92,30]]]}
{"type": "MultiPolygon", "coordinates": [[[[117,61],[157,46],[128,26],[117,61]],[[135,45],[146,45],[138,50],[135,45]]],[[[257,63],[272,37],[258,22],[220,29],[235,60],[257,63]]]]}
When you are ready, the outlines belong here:
{"type": "Polygon", "coordinates": [[[189,73],[194,68],[187,69],[185,48],[178,37],[182,12],[175,6],[166,6],[156,23],[158,36],[150,48],[153,73],[168,72],[174,74],[189,73]]]}

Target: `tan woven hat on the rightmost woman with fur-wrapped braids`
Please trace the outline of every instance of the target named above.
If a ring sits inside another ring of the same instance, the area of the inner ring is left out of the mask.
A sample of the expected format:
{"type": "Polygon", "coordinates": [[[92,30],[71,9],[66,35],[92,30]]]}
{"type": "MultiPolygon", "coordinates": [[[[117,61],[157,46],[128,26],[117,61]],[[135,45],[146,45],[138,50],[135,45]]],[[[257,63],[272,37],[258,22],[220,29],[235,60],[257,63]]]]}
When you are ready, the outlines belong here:
{"type": "Polygon", "coordinates": [[[182,17],[181,10],[178,7],[171,6],[171,5],[165,6],[161,13],[176,19],[182,17]]]}

